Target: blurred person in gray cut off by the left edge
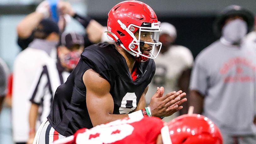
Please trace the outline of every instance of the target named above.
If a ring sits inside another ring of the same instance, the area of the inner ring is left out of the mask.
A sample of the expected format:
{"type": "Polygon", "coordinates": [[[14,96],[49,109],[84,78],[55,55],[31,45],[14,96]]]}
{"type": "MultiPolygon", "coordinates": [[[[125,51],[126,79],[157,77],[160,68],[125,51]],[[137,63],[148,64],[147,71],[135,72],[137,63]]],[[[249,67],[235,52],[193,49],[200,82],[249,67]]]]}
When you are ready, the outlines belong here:
{"type": "Polygon", "coordinates": [[[8,73],[9,70],[6,63],[0,58],[0,114],[3,107],[4,98],[7,94],[8,73]]]}

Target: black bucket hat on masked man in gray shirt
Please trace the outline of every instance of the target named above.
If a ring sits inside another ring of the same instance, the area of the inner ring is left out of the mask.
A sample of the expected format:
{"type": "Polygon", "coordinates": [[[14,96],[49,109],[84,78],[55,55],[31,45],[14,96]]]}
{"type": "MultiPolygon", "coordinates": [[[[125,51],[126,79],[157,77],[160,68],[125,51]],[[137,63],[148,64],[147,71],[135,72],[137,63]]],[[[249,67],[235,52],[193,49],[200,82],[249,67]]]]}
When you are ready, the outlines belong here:
{"type": "Polygon", "coordinates": [[[246,8],[243,8],[238,5],[230,5],[227,6],[223,11],[220,12],[220,14],[217,16],[217,18],[214,21],[214,32],[216,36],[220,37],[221,36],[221,30],[224,25],[224,22],[227,18],[230,16],[241,16],[248,25],[248,32],[250,32],[253,29],[253,23],[254,23],[254,15],[251,11],[249,11],[246,8]]]}

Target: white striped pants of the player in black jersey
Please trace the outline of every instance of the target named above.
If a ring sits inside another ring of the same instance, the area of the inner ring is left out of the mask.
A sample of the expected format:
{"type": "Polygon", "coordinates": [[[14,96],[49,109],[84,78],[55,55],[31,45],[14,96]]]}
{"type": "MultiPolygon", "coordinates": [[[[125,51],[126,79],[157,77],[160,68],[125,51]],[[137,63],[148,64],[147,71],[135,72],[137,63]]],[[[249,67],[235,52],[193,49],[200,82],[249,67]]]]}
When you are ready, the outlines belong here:
{"type": "Polygon", "coordinates": [[[33,144],[52,144],[53,141],[63,138],[65,138],[65,136],[59,134],[56,130],[53,129],[48,120],[45,120],[36,131],[33,144]]]}

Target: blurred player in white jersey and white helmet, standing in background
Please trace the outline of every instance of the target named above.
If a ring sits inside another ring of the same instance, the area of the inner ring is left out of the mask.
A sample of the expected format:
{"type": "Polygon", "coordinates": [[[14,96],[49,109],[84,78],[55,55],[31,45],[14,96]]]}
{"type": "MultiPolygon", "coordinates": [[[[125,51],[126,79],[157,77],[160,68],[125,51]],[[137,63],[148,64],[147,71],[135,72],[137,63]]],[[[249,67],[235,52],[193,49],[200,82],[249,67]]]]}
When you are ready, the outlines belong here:
{"type": "MultiPolygon", "coordinates": [[[[189,81],[190,75],[182,75],[184,71],[191,68],[193,64],[193,55],[191,51],[180,45],[174,45],[177,34],[175,27],[167,22],[161,23],[161,30],[159,41],[162,42],[161,51],[156,59],[155,75],[149,85],[148,92],[146,94],[147,104],[150,102],[151,96],[155,93],[155,87],[164,86],[164,91],[182,90],[188,91],[186,88],[178,86],[178,79],[183,76],[180,85],[185,85],[189,81]]],[[[156,53],[157,54],[157,53],[156,53]]],[[[186,104],[185,104],[186,105],[186,104]]],[[[186,106],[184,106],[186,108],[186,106]]],[[[186,110],[187,113],[187,108],[186,110]]],[[[177,114],[173,114],[170,118],[164,118],[165,121],[170,121],[176,117],[177,114]]]]}

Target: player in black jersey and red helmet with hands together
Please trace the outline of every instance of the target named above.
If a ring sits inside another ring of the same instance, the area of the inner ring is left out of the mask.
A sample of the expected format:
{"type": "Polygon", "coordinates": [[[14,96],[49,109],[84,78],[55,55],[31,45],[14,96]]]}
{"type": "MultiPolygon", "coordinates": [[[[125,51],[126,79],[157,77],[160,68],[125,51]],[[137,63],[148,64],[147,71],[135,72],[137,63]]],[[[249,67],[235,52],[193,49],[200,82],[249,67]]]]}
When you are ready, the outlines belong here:
{"type": "Polygon", "coordinates": [[[157,55],[152,53],[162,45],[153,9],[139,1],[118,3],[109,12],[108,30],[116,44],[85,48],[76,68],[56,90],[48,121],[40,126],[35,141],[49,143],[125,117],[170,116],[182,108],[186,93],[163,96],[163,87],[157,88],[148,107],[145,104],[155,72],[152,59],[157,55]]]}

